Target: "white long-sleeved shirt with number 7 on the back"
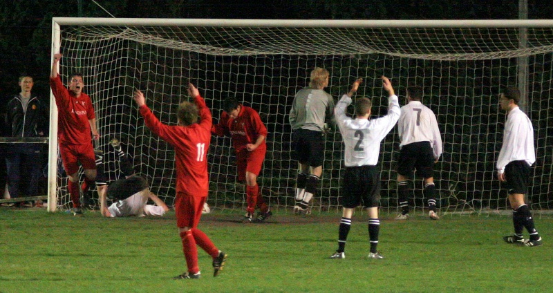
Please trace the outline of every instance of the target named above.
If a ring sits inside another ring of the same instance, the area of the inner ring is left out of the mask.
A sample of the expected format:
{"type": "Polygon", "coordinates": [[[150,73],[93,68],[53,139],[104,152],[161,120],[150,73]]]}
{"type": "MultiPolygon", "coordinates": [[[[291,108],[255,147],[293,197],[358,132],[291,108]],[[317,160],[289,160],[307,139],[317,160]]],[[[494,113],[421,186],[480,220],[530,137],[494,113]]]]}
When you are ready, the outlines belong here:
{"type": "Polygon", "coordinates": [[[434,158],[442,155],[442,135],[434,112],[420,101],[411,101],[402,106],[400,121],[397,122],[400,148],[413,142],[430,142],[434,158]]]}

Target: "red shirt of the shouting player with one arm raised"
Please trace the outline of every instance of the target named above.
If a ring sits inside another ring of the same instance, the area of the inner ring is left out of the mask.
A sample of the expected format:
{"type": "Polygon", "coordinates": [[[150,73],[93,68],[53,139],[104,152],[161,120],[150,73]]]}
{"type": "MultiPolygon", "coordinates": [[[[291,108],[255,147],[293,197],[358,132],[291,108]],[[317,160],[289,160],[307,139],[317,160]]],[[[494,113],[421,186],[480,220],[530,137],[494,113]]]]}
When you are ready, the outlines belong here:
{"type": "Polygon", "coordinates": [[[62,79],[50,77],[50,87],[56,100],[58,111],[57,136],[60,144],[91,144],[91,124],[95,113],[91,97],[81,93],[75,97],[62,84],[62,79]]]}

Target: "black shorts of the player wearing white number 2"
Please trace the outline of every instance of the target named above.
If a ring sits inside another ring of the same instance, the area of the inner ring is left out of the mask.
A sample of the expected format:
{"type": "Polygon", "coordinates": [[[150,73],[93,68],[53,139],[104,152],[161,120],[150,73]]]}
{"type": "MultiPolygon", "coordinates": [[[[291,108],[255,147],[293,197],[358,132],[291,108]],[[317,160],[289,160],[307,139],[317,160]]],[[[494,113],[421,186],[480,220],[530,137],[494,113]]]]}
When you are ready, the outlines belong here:
{"type": "Polygon", "coordinates": [[[348,209],[378,207],[380,171],[376,166],[346,167],[342,183],[341,205],[348,209]]]}

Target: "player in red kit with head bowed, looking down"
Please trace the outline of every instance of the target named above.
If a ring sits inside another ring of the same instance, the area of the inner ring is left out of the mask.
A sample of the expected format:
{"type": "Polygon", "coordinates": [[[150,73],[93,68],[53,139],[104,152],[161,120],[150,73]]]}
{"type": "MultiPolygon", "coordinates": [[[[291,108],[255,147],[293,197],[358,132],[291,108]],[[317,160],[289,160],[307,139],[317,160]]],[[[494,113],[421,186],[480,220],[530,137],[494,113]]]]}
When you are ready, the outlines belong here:
{"type": "Polygon", "coordinates": [[[229,135],[232,139],[236,151],[238,181],[246,182],[247,212],[243,222],[263,222],[272,212],[261,197],[257,185],[257,176],[267,151],[267,128],[261,122],[261,117],[254,109],[238,103],[231,97],[225,101],[225,111],[221,114],[219,124],[212,127],[212,133],[218,136],[229,135]],[[254,219],[256,206],[261,211],[254,219]]]}

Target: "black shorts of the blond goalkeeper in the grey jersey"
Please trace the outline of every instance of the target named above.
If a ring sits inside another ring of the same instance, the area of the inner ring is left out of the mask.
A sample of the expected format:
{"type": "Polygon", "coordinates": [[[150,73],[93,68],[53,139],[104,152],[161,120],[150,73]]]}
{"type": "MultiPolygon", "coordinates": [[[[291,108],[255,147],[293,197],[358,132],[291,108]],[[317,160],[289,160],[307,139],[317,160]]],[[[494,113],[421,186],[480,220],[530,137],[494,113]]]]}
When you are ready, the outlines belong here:
{"type": "Polygon", "coordinates": [[[292,159],[310,167],[323,165],[324,136],[321,131],[297,129],[292,133],[292,159]]]}

